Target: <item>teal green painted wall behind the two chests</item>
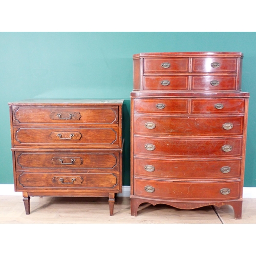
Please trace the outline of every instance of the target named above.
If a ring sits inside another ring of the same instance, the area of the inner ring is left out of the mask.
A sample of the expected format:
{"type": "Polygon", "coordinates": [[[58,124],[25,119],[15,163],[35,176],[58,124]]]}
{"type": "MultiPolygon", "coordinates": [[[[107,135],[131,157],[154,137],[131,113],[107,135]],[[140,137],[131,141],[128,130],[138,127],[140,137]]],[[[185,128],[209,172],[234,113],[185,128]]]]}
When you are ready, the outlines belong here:
{"type": "Polygon", "coordinates": [[[28,98],[124,99],[123,185],[130,185],[132,55],[141,52],[243,52],[250,93],[245,183],[256,187],[256,33],[1,32],[0,184],[13,184],[8,102],[28,98]]]}

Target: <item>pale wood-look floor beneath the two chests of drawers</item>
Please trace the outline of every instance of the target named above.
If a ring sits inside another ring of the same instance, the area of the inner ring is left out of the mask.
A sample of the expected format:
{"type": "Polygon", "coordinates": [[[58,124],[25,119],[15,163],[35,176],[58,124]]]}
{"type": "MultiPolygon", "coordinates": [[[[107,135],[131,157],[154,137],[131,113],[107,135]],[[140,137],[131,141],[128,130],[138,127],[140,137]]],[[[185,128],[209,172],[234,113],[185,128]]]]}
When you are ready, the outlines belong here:
{"type": "Polygon", "coordinates": [[[142,204],[131,216],[130,198],[118,197],[114,216],[107,198],[31,197],[30,215],[20,196],[0,196],[1,224],[256,224],[256,199],[243,200],[242,219],[235,220],[229,205],[181,210],[167,205],[142,204]]]}

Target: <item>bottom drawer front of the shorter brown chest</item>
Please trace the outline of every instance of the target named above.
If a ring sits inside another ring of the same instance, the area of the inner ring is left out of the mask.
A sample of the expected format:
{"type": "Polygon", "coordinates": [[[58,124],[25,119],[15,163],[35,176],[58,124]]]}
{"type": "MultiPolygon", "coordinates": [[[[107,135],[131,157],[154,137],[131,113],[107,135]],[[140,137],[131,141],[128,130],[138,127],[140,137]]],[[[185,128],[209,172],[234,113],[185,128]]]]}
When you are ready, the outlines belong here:
{"type": "Polygon", "coordinates": [[[67,174],[17,172],[17,188],[117,189],[119,174],[67,174]]]}

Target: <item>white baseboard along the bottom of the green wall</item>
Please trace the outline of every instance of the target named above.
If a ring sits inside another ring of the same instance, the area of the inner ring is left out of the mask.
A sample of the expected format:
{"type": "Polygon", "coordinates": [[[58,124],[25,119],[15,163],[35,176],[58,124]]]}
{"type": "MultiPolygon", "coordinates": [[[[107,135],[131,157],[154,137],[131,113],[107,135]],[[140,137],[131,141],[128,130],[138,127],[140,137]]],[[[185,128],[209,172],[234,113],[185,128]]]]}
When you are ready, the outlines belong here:
{"type": "MultiPolygon", "coordinates": [[[[122,193],[117,197],[130,197],[130,186],[123,186],[122,193]]],[[[0,184],[0,196],[22,196],[22,192],[15,192],[13,184],[0,184]]],[[[243,198],[256,198],[256,187],[244,187],[243,198]]]]}

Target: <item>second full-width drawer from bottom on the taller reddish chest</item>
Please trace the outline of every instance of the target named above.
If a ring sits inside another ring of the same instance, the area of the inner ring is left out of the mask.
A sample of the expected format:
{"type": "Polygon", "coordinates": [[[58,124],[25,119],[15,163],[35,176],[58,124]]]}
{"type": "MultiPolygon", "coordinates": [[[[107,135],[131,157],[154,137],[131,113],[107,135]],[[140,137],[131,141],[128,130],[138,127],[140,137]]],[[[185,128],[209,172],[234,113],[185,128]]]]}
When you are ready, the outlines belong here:
{"type": "Polygon", "coordinates": [[[180,179],[226,179],[239,178],[240,160],[157,160],[134,159],[135,176],[180,179]]]}

